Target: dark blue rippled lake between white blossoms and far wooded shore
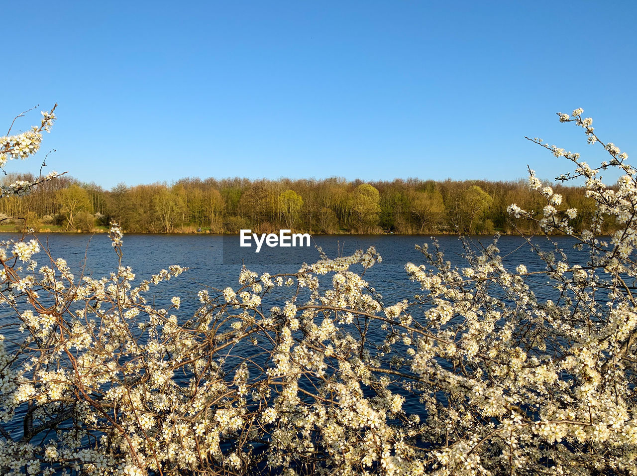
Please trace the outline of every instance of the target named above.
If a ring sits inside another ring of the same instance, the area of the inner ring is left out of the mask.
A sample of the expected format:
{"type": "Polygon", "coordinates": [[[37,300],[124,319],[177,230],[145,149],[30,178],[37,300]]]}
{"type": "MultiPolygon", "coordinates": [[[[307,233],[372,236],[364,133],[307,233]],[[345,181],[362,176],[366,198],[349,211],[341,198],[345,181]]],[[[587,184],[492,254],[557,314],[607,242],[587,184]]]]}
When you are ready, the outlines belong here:
{"type": "MultiPolygon", "coordinates": [[[[7,240],[11,234],[0,233],[0,239],[7,240]]],[[[13,235],[15,237],[15,235],[13,235]]],[[[38,236],[43,245],[50,249],[53,257],[66,259],[76,274],[85,265],[84,273],[94,277],[108,275],[117,268],[117,256],[111,247],[106,234],[62,234],[52,233],[38,236]]],[[[462,254],[462,243],[457,236],[437,236],[446,259],[459,266],[467,266],[459,258],[462,254]]],[[[564,249],[569,256],[581,257],[582,263],[586,259],[584,252],[575,252],[573,238],[556,236],[552,238],[564,249]]],[[[478,245],[482,242],[488,245],[492,238],[489,236],[473,236],[471,240],[478,245]]],[[[181,312],[194,310],[197,306],[197,291],[202,285],[223,289],[226,286],[235,287],[241,270],[241,263],[252,271],[261,275],[268,271],[271,274],[280,272],[294,272],[301,264],[313,263],[320,259],[315,245],[322,247],[329,257],[347,256],[357,249],[367,249],[370,246],[383,257],[382,263],[376,264],[366,273],[369,284],[383,295],[387,305],[394,301],[413,297],[419,291],[419,286],[410,282],[404,264],[411,261],[415,264],[426,264],[424,256],[415,250],[415,245],[431,243],[431,236],[404,235],[320,235],[313,236],[311,247],[269,248],[262,247],[259,254],[255,248],[240,248],[238,235],[210,235],[210,234],[126,234],[124,235],[125,266],[131,266],[136,278],[144,279],[157,273],[171,264],[186,266],[189,270],[176,280],[154,288],[159,294],[171,292],[182,298],[181,312]]],[[[537,238],[534,243],[547,247],[545,238],[537,238]]],[[[526,243],[520,236],[502,236],[498,247],[505,264],[515,268],[518,264],[525,264],[529,271],[544,270],[544,264],[529,252],[526,243]],[[522,247],[522,248],[520,248],[522,247]]],[[[45,264],[45,256],[41,252],[36,256],[38,265],[45,264]]],[[[579,261],[579,260],[578,260],[579,261]]],[[[354,266],[353,271],[361,270],[361,266],[354,266]]],[[[537,282],[540,286],[541,282],[537,282]]],[[[534,289],[538,296],[550,296],[550,289],[534,289]]]]}

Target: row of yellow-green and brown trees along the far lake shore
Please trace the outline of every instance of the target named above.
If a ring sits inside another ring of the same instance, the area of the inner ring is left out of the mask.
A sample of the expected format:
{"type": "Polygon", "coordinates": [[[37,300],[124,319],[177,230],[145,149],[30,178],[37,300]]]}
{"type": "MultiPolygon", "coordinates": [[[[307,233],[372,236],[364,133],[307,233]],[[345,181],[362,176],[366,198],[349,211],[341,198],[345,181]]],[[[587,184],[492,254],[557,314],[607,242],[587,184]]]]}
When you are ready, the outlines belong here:
{"type": "MultiPolygon", "coordinates": [[[[10,174],[4,184],[33,180],[10,174]]],[[[581,187],[550,185],[563,203],[578,209],[575,230],[590,226],[595,203],[581,187]]],[[[116,220],[129,233],[269,233],[281,228],[309,233],[533,233],[534,224],[512,220],[516,203],[541,212],[547,205],[526,180],[408,180],[364,183],[324,180],[182,178],[172,184],[118,184],[110,190],[63,176],[29,196],[0,201],[3,218],[22,226],[92,231],[116,220]]],[[[608,224],[607,226],[612,226],[608,224]]],[[[608,231],[608,230],[606,230],[608,231]]]]}

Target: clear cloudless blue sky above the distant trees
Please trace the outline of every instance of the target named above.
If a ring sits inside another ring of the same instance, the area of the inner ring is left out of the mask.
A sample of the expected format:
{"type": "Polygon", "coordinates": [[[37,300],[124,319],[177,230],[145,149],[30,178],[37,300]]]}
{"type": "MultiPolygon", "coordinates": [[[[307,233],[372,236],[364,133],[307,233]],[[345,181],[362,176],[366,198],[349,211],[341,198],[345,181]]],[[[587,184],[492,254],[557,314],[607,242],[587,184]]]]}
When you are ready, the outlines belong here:
{"type": "MultiPolygon", "coordinates": [[[[553,178],[568,164],[524,136],[600,160],[557,121],[577,107],[637,163],[636,13],[633,1],[11,2],[0,120],[59,103],[48,169],[106,188],[513,180],[526,164],[553,178]]],[[[35,172],[42,157],[6,169],[35,172]]]]}

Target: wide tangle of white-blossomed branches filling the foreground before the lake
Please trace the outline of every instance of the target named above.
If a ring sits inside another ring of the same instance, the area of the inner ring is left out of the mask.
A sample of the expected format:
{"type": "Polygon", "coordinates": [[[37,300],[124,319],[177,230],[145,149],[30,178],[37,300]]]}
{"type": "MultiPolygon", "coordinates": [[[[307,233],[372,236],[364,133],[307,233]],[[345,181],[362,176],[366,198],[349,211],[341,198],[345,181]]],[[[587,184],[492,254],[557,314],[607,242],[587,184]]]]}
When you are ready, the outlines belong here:
{"type": "Polygon", "coordinates": [[[513,270],[496,238],[465,242],[457,267],[434,241],[420,247],[426,264],[405,267],[422,292],[387,305],[364,277],[381,259],[370,248],[292,274],[243,268],[235,287],[199,292],[186,319],[180,298],[144,297],[183,268],[136,281],[116,224],[120,264],[103,278],[50,256],[38,265],[36,238],[4,242],[3,327],[25,337],[0,338],[1,472],[637,473],[637,171],[582,113],[559,117],[610,154],[598,168],[534,141],[575,164],[560,180],[585,180],[591,229],[573,233],[577,210],[533,171],[546,206],[510,212],[572,236],[585,262],[528,238],[543,270],[513,270]],[[623,173],[617,187],[598,178],[608,168],[623,173]],[[608,219],[620,230],[601,240],[608,219]],[[531,289],[538,273],[554,299],[531,289]]]}

